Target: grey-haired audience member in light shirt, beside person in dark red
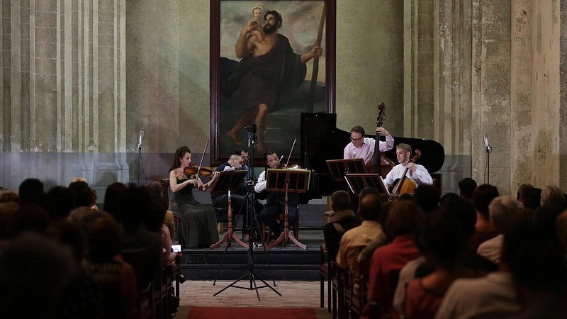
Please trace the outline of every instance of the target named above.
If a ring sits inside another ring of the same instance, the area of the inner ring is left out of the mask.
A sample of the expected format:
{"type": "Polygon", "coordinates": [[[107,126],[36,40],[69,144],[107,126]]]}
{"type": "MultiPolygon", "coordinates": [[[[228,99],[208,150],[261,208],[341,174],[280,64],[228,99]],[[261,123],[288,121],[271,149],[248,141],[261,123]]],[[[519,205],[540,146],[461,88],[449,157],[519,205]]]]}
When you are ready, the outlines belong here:
{"type": "Polygon", "coordinates": [[[498,264],[504,240],[503,234],[517,221],[517,216],[522,214],[524,206],[512,197],[498,196],[490,202],[488,211],[490,212],[490,223],[493,223],[499,234],[481,243],[476,252],[498,264]]]}

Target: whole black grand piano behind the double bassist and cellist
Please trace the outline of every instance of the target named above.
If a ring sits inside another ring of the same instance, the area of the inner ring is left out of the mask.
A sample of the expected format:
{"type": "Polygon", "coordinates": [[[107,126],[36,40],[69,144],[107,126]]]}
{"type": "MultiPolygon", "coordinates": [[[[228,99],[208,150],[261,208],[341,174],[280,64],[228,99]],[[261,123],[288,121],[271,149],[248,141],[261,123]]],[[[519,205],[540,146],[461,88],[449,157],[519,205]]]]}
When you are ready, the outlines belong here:
{"type": "MultiPolygon", "coordinates": [[[[365,135],[375,138],[376,135],[365,135]]],[[[385,137],[381,137],[385,140],[385,137]]],[[[346,189],[344,181],[334,181],[327,168],[327,159],[342,159],[344,147],[350,142],[350,132],[337,128],[335,113],[301,113],[301,167],[315,171],[313,184],[310,186],[308,199],[330,196],[334,191],[346,189]]],[[[434,186],[442,188],[441,174],[436,173],[443,166],[445,150],[443,145],[434,140],[420,138],[400,138],[394,136],[394,145],[406,143],[415,150],[421,151],[421,157],[416,163],[427,168],[434,179],[434,186]]],[[[383,176],[398,164],[395,157],[395,147],[383,152],[381,171],[383,176]],[[386,163],[391,164],[386,164],[386,163]]],[[[413,156],[414,154],[412,154],[413,156]]]]}

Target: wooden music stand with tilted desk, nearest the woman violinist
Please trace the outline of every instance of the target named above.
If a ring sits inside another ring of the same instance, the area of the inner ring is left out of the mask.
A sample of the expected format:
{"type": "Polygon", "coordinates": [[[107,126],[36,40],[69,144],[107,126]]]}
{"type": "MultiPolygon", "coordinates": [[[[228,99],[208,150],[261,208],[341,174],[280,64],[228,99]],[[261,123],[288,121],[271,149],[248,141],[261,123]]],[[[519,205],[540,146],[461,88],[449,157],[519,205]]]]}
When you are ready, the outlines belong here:
{"type": "Polygon", "coordinates": [[[232,201],[230,200],[230,192],[235,192],[240,186],[240,182],[245,177],[248,171],[225,171],[218,174],[213,188],[210,190],[211,195],[225,194],[228,193],[228,230],[223,238],[213,245],[210,245],[210,249],[214,250],[228,240],[227,247],[230,247],[230,242],[234,240],[240,246],[248,248],[248,244],[240,240],[238,235],[232,230],[232,201]]]}

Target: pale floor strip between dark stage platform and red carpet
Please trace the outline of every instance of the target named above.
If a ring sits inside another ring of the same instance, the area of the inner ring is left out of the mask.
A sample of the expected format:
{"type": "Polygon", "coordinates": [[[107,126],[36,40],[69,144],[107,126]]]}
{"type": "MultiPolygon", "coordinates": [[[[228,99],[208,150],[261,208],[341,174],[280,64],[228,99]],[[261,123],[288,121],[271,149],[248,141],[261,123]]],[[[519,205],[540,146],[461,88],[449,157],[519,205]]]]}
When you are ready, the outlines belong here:
{"type": "MultiPolygon", "coordinates": [[[[319,319],[330,318],[327,308],[319,308],[319,281],[276,281],[276,286],[269,281],[268,284],[281,293],[281,296],[266,287],[257,290],[260,301],[254,289],[239,289],[232,286],[213,296],[232,282],[217,281],[215,286],[213,281],[186,281],[181,284],[179,289],[181,301],[176,318],[187,318],[191,306],[314,308],[319,319]]],[[[262,285],[262,281],[257,281],[257,284],[262,285]]],[[[249,288],[249,281],[240,281],[237,286],[249,288]]]]}

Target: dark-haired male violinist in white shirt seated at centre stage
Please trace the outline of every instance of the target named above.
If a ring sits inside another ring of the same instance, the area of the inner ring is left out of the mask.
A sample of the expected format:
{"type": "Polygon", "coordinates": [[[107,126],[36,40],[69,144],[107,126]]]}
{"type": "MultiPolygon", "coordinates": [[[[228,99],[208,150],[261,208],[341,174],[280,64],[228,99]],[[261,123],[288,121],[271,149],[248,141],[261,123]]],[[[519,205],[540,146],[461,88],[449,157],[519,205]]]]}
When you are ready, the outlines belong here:
{"type": "MultiPolygon", "coordinates": [[[[266,169],[276,169],[281,168],[279,164],[279,158],[276,152],[271,150],[266,151],[264,154],[264,164],[266,164],[266,169]]],[[[266,190],[266,170],[260,173],[256,185],[254,185],[254,191],[261,193],[266,190]]],[[[265,223],[270,228],[271,232],[274,233],[275,237],[278,237],[281,232],[283,232],[283,222],[279,223],[277,216],[279,213],[283,213],[286,210],[286,194],[283,191],[269,192],[267,195],[266,205],[262,212],[260,213],[259,220],[265,223]]],[[[298,216],[298,207],[296,201],[296,194],[288,194],[288,224],[293,225],[298,216]]]]}

